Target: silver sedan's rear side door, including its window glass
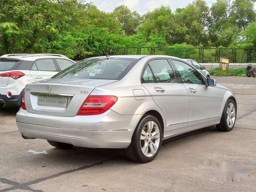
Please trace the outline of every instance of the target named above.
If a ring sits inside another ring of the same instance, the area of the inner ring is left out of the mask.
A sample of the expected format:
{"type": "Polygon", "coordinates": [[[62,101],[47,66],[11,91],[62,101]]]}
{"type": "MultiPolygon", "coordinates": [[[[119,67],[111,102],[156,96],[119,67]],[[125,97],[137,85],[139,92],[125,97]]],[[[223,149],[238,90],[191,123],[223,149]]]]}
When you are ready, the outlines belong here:
{"type": "Polygon", "coordinates": [[[182,83],[178,83],[174,69],[167,59],[154,59],[147,63],[142,75],[142,85],[163,111],[166,131],[187,126],[188,92],[182,83]]]}

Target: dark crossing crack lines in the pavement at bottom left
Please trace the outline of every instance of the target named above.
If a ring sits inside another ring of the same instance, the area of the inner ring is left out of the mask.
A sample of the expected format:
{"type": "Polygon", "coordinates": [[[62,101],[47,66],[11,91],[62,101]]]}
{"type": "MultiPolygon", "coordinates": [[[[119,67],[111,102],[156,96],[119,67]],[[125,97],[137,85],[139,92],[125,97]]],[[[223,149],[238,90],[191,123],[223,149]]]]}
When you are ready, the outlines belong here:
{"type": "Polygon", "coordinates": [[[84,169],[91,168],[91,167],[94,167],[94,166],[97,166],[97,165],[101,165],[101,164],[103,164],[105,162],[108,162],[108,161],[111,161],[113,159],[116,159],[116,157],[112,158],[112,159],[100,161],[100,162],[97,162],[97,163],[93,163],[91,165],[84,165],[84,166],[79,167],[79,168],[66,170],[65,172],[60,172],[60,173],[57,173],[55,175],[51,175],[51,176],[48,176],[48,177],[42,177],[42,178],[39,178],[39,179],[36,179],[36,180],[33,180],[33,181],[29,181],[27,183],[18,183],[18,182],[14,182],[14,181],[11,181],[11,180],[8,180],[8,179],[5,179],[5,178],[0,178],[0,181],[2,183],[13,185],[12,187],[8,187],[8,188],[4,188],[4,189],[0,190],[0,192],[10,191],[10,190],[15,190],[15,189],[25,189],[25,190],[30,190],[30,191],[33,191],[33,192],[42,192],[42,190],[32,189],[29,185],[37,184],[37,183],[46,181],[48,179],[53,179],[53,178],[56,178],[56,177],[59,177],[59,176],[62,176],[62,175],[70,174],[70,173],[76,172],[78,170],[84,170],[84,169]]]}

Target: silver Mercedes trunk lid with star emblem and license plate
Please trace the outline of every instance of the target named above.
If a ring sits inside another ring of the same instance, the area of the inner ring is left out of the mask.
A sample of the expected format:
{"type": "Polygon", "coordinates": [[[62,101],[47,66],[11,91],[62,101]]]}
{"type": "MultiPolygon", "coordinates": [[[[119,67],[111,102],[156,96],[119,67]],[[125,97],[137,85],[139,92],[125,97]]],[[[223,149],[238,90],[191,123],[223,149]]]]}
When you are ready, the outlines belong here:
{"type": "Polygon", "coordinates": [[[99,86],[117,80],[46,79],[28,84],[25,102],[30,113],[52,116],[76,116],[82,103],[99,86]]]}

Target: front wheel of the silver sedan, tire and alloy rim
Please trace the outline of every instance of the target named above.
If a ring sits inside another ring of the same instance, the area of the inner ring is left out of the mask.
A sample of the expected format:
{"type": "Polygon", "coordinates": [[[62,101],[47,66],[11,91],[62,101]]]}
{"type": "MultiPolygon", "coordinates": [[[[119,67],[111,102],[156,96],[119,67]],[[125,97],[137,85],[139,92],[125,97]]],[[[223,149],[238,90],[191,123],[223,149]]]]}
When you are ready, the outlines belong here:
{"type": "Polygon", "coordinates": [[[228,99],[224,106],[220,124],[216,125],[217,129],[222,132],[229,132],[236,124],[237,109],[236,103],[232,99],[228,99]]]}

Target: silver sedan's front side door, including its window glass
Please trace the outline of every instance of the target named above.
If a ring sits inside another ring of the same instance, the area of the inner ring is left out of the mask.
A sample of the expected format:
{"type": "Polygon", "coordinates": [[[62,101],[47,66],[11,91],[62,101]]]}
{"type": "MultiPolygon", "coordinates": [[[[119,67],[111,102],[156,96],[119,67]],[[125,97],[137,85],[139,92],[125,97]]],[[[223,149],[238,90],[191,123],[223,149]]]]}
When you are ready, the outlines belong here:
{"type": "Polygon", "coordinates": [[[180,60],[173,59],[189,94],[188,126],[215,120],[218,95],[215,87],[208,87],[201,74],[180,60]]]}

